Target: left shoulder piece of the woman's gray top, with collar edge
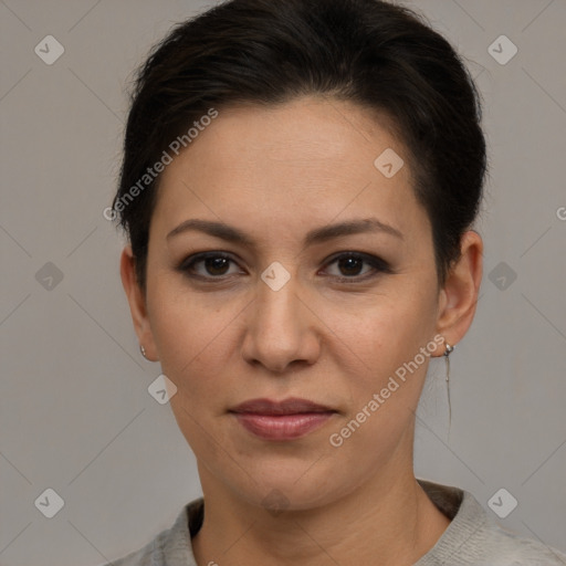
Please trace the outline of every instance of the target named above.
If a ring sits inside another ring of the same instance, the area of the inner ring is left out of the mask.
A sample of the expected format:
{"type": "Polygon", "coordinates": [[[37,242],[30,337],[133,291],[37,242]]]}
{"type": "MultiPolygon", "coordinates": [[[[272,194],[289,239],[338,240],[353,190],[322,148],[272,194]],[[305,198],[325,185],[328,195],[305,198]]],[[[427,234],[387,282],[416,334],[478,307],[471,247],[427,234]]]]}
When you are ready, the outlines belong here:
{"type": "Polygon", "coordinates": [[[175,523],[144,547],[102,566],[197,566],[192,554],[191,532],[200,528],[202,504],[202,497],[188,503],[175,523]]]}

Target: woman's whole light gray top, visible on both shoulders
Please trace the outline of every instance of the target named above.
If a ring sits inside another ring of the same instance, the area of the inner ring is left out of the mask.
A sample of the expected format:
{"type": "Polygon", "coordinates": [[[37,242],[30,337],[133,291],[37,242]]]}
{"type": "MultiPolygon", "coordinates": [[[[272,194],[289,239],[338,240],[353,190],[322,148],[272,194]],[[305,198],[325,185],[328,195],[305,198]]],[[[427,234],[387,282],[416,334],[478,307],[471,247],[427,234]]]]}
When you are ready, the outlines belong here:
{"type": "MultiPolygon", "coordinates": [[[[417,481],[451,523],[415,566],[566,566],[566,554],[501,527],[468,491],[417,481]]],[[[200,497],[149,544],[104,566],[197,566],[191,536],[202,517],[200,497]]]]}

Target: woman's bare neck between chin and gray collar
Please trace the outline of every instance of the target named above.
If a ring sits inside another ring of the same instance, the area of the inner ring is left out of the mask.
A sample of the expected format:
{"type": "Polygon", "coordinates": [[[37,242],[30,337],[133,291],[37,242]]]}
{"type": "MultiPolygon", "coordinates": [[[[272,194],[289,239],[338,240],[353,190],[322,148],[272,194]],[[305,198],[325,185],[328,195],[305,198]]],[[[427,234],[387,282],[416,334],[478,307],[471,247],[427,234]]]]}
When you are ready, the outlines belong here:
{"type": "Polygon", "coordinates": [[[192,539],[197,562],[412,565],[432,548],[450,520],[420,488],[412,465],[409,471],[384,472],[327,505],[279,514],[201,475],[206,507],[192,539]]]}

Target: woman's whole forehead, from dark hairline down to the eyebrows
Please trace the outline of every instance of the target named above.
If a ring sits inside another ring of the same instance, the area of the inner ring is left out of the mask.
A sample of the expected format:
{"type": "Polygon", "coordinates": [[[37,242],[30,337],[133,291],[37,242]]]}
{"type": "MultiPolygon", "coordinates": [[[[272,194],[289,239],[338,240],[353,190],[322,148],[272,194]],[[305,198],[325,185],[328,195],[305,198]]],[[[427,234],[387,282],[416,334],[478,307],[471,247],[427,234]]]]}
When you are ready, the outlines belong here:
{"type": "Polygon", "coordinates": [[[155,216],[169,229],[199,216],[289,232],[375,212],[410,228],[422,211],[409,167],[388,178],[375,165],[391,150],[408,163],[390,126],[353,103],[321,97],[219,111],[164,171],[155,216]]]}

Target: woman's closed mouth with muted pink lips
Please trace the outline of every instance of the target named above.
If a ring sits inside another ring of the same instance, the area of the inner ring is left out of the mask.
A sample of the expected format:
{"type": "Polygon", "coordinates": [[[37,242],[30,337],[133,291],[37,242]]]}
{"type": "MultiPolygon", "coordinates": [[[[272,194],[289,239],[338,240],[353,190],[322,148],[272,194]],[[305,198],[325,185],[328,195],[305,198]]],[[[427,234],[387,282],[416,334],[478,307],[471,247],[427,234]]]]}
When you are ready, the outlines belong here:
{"type": "Polygon", "coordinates": [[[337,415],[335,409],[298,398],[283,401],[252,399],[229,412],[248,432],[262,440],[272,441],[305,437],[337,415]]]}

